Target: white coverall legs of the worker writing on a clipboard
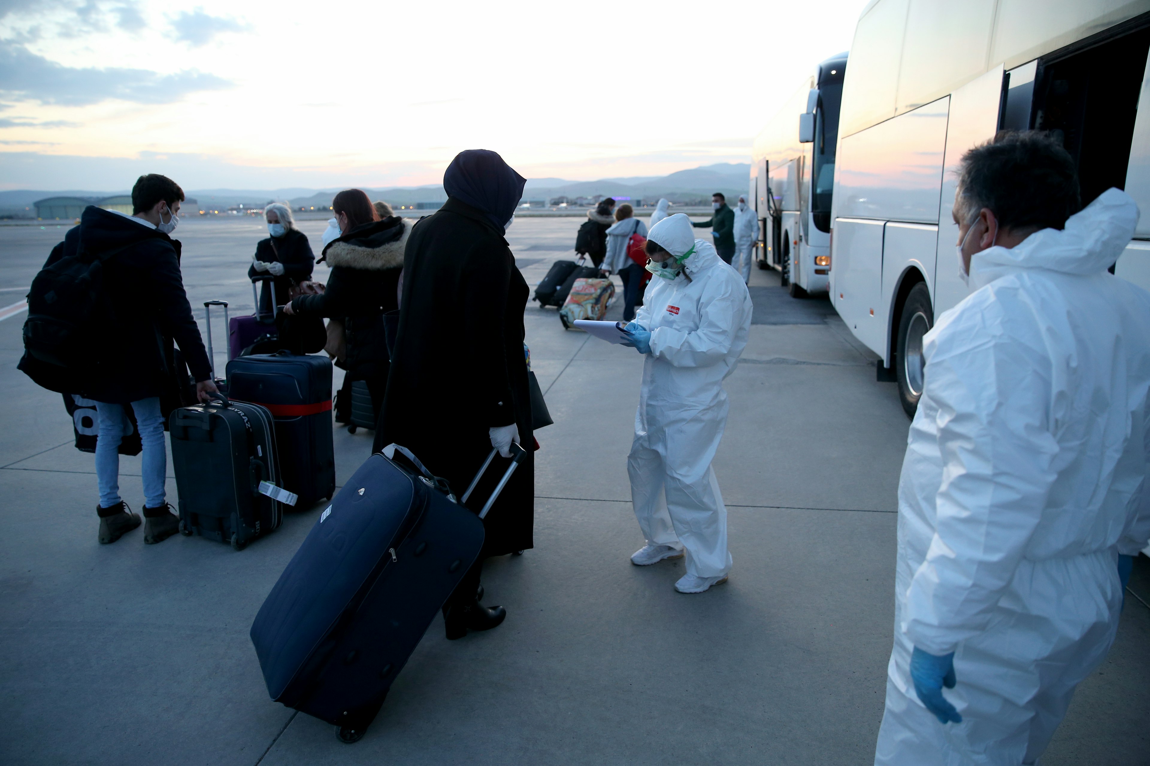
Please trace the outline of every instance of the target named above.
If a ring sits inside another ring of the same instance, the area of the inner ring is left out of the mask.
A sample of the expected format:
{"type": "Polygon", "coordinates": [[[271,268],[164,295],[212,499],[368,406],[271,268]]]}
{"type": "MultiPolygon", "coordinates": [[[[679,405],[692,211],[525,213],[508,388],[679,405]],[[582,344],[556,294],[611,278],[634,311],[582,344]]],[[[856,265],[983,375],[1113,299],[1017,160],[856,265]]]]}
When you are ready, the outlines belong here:
{"type": "Polygon", "coordinates": [[[724,397],[685,423],[662,427],[654,427],[649,417],[646,433],[636,424],[627,457],[631,504],[643,536],[651,544],[685,551],[688,574],[700,578],[722,577],[731,567],[727,506],[711,467],[727,408],[724,397]]]}

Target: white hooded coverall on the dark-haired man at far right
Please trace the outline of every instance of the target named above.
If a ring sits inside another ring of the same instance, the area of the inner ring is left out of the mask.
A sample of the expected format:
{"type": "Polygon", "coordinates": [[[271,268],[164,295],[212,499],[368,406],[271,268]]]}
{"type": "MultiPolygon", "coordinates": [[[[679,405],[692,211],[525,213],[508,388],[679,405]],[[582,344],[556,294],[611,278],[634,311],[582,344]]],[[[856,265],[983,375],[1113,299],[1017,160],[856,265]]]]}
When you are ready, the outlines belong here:
{"type": "Polygon", "coordinates": [[[898,486],[895,647],[875,764],[1033,764],[1118,628],[1118,554],[1150,537],[1150,294],[1106,270],[1138,211],[1110,189],[1012,249],[927,333],[898,486]],[[914,647],[954,652],[919,702],[914,647]]]}

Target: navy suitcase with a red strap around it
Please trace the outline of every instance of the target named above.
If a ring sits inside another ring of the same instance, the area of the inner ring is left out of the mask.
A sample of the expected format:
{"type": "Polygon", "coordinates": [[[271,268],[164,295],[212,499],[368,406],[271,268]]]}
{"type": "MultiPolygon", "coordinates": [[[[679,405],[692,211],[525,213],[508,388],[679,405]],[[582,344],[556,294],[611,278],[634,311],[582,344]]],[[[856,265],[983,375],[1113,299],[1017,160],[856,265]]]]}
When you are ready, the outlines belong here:
{"type": "Polygon", "coordinates": [[[331,359],[286,351],[236,357],[228,363],[228,395],[271,411],[283,486],[299,496],[299,505],[330,500],[336,492],[331,359]]]}

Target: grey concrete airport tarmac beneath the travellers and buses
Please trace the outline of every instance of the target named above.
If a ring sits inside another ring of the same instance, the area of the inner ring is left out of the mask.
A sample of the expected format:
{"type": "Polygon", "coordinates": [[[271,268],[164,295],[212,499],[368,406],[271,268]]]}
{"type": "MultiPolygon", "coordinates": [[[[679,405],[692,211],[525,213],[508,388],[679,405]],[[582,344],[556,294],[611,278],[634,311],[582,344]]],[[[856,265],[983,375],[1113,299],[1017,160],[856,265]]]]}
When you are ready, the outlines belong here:
{"type": "MultiPolygon", "coordinates": [[[[301,223],[315,245],[323,227],[301,223]]],[[[528,284],[572,256],[576,227],[516,220],[508,241],[528,284]]],[[[0,308],[23,296],[66,229],[0,229],[0,308]]],[[[264,231],[258,219],[181,224],[201,326],[206,300],[252,310],[246,269],[264,231]]],[[[315,278],[325,274],[321,265],[315,278]]],[[[354,745],[268,698],[247,635],[322,505],[240,552],[200,537],[144,546],[141,531],[98,544],[92,456],[74,449],[60,395],[15,369],[23,315],[0,322],[0,763],[871,763],[908,421],[829,303],[795,301],[758,270],[752,293],[715,459],[730,581],[684,596],[672,588],[681,562],[629,563],[643,543],[626,470],[642,358],[529,303],[531,362],[555,424],[537,432],[536,548],[484,570],[485,601],[507,621],[448,642],[437,619],[354,745]]],[[[220,370],[224,356],[220,341],[220,370]]],[[[335,435],[338,482],[373,434],[335,435]]],[[[139,510],[138,457],[122,458],[121,477],[139,510]]],[[[168,493],[175,502],[170,463],[168,493]]],[[[1150,763],[1145,557],[1132,591],[1044,766],[1150,763]]]]}

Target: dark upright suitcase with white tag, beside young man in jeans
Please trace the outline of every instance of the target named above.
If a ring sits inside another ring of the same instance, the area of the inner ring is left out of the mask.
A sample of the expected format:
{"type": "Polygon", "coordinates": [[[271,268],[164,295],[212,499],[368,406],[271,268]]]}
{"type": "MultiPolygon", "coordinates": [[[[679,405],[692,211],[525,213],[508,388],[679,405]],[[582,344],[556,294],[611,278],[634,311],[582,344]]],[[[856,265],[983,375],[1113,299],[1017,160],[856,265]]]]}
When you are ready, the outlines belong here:
{"type": "Polygon", "coordinates": [[[243,550],[279,526],[296,497],[281,486],[270,412],[218,396],[172,410],[168,431],[183,534],[243,550]]]}

